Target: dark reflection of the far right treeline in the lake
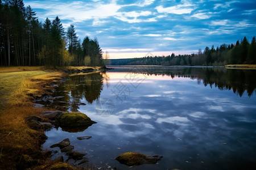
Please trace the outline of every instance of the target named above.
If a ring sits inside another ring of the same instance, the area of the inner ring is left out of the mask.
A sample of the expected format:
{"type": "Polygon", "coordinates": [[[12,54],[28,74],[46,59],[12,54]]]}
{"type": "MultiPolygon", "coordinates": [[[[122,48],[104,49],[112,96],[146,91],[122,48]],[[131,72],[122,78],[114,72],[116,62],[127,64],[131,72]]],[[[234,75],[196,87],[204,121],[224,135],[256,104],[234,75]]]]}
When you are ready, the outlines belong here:
{"type": "Polygon", "coordinates": [[[224,67],[164,67],[164,66],[113,66],[114,70],[155,76],[171,76],[196,79],[204,86],[215,86],[220,90],[233,90],[240,96],[246,91],[251,96],[256,88],[256,70],[225,69],[224,67]]]}

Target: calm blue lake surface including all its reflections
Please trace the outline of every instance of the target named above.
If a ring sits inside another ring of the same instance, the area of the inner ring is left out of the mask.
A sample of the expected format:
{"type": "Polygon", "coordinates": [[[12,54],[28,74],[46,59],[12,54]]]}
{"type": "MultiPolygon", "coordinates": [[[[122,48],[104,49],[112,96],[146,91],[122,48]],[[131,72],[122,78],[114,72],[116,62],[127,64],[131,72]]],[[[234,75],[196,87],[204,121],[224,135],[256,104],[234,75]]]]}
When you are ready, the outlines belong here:
{"type": "MultiPolygon", "coordinates": [[[[111,169],[255,169],[256,70],[224,67],[115,66],[69,76],[54,96],[60,109],[97,124],[78,132],[46,131],[44,149],[69,138],[89,163],[111,169]],[[84,105],[84,104],[86,105],[84,105]],[[78,140],[77,137],[92,138],[78,140]],[[160,155],[158,164],[127,167],[124,152],[160,155]]],[[[67,159],[67,156],[64,156],[67,159]]]]}

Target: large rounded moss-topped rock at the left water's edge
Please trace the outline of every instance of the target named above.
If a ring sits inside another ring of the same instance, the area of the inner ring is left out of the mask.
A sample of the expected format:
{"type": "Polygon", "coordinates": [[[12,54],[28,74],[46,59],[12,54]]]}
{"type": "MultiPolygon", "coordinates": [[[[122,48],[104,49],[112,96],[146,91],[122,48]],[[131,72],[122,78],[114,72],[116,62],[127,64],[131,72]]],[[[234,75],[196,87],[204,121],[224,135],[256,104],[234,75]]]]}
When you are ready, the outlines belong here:
{"type": "Polygon", "coordinates": [[[79,128],[83,126],[91,126],[96,123],[97,122],[90,120],[86,114],[80,112],[65,112],[60,117],[61,128],[79,128]]]}

